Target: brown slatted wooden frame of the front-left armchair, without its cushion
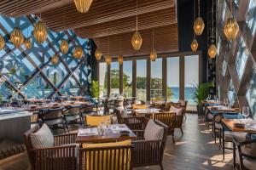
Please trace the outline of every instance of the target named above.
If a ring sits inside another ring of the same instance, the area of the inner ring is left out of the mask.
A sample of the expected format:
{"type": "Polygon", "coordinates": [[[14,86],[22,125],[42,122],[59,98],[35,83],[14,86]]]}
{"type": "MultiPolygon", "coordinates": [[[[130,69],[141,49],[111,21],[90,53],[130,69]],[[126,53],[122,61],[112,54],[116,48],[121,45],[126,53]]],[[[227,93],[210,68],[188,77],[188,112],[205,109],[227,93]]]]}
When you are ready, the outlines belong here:
{"type": "Polygon", "coordinates": [[[39,126],[35,126],[23,134],[24,143],[26,145],[26,151],[30,161],[31,169],[76,170],[78,167],[77,153],[79,147],[74,143],[77,137],[77,133],[68,133],[54,136],[54,146],[35,148],[32,145],[31,136],[32,133],[37,133],[39,129],[39,126]]]}

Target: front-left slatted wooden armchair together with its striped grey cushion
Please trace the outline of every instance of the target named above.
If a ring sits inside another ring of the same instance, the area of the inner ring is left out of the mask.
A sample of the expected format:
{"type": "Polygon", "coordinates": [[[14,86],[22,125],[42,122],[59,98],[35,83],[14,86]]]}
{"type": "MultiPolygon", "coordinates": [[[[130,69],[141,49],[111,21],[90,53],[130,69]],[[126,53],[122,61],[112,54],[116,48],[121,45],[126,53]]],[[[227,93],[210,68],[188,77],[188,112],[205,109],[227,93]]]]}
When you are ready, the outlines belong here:
{"type": "Polygon", "coordinates": [[[24,133],[24,143],[32,170],[75,170],[78,167],[79,145],[76,133],[53,136],[44,123],[24,133]]]}

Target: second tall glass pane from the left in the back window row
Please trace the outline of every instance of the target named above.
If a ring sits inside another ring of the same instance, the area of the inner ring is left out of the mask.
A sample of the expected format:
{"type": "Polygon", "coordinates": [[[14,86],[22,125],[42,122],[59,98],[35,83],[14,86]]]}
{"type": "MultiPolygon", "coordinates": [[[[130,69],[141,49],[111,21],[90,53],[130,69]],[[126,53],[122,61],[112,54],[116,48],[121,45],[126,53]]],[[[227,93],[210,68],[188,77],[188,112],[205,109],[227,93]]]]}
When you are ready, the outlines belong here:
{"type": "Polygon", "coordinates": [[[117,97],[119,96],[119,62],[112,62],[110,66],[110,97],[117,97]]]}

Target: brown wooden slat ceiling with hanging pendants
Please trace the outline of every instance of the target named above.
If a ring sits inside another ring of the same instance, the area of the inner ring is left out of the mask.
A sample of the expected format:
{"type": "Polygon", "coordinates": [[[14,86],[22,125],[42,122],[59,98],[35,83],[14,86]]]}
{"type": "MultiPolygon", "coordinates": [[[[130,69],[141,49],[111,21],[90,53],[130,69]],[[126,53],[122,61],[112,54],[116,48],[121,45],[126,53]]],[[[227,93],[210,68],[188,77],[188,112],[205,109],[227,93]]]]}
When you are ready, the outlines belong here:
{"type": "Polygon", "coordinates": [[[131,56],[150,53],[153,28],[158,53],[177,51],[174,2],[175,0],[93,0],[89,12],[81,14],[75,8],[73,0],[2,0],[0,14],[22,16],[41,13],[42,20],[53,31],[73,29],[80,37],[94,38],[96,42],[101,42],[104,53],[117,55],[121,48],[124,56],[131,56]],[[131,47],[137,14],[138,29],[143,37],[143,46],[138,52],[131,47]]]}

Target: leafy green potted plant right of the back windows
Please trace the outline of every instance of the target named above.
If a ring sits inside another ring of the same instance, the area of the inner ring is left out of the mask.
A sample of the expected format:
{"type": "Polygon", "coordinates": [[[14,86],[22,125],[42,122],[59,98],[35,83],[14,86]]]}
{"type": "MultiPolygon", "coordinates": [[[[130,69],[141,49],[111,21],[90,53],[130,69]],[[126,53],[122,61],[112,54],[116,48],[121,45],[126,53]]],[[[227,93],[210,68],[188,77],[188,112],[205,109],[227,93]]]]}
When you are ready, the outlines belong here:
{"type": "Polygon", "coordinates": [[[193,84],[195,91],[193,93],[193,99],[195,100],[195,103],[197,104],[197,112],[198,115],[203,115],[203,105],[207,99],[207,96],[209,94],[210,89],[213,87],[212,82],[207,83],[201,83],[201,84],[193,84]]]}

